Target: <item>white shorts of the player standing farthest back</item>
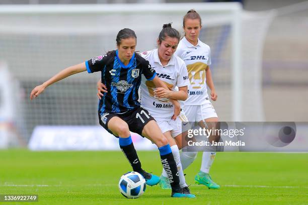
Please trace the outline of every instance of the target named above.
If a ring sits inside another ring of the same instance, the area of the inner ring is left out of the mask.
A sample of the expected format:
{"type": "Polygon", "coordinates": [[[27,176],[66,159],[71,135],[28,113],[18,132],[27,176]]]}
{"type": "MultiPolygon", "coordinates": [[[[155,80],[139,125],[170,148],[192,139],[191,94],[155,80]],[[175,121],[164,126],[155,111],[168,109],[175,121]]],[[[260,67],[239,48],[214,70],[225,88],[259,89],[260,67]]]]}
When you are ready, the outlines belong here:
{"type": "Polygon", "coordinates": [[[186,106],[184,107],[186,117],[189,122],[200,122],[208,118],[217,118],[216,111],[209,100],[200,106],[186,106]]]}

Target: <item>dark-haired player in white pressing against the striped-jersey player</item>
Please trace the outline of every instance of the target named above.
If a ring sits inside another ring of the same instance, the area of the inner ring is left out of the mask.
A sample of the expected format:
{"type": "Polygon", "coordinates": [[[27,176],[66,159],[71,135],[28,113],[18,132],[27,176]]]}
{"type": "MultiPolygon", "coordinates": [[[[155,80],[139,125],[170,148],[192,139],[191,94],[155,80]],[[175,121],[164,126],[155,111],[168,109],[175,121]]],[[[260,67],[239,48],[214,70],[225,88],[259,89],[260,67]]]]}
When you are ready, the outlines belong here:
{"type": "MultiPolygon", "coordinates": [[[[172,154],[177,164],[180,186],[185,197],[195,197],[190,193],[180,161],[180,152],[175,141],[182,139],[183,115],[174,115],[174,105],[170,99],[186,100],[189,79],[185,62],[174,55],[180,41],[180,33],[171,27],[171,24],[164,24],[157,40],[158,49],[143,52],[140,55],[149,62],[155,69],[156,75],[167,85],[169,90],[156,88],[155,84],[146,78],[141,78],[141,106],[155,118],[164,136],[170,143],[172,154]],[[175,88],[178,88],[175,90],[175,88]]],[[[102,85],[98,82],[98,96],[102,94],[102,85]]],[[[163,169],[165,170],[165,169],[163,169]]],[[[168,180],[168,173],[164,171],[168,180]]],[[[164,176],[163,176],[164,177],[164,176]]],[[[170,186],[170,185],[169,185],[170,186]]]]}

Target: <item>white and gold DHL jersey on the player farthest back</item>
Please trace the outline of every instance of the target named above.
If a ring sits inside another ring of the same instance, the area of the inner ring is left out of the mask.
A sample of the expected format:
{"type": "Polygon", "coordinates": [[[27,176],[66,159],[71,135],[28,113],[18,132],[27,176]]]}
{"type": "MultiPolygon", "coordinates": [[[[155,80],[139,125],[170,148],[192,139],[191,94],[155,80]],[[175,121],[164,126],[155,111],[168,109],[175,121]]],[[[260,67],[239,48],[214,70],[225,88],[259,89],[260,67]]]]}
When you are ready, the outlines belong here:
{"type": "Polygon", "coordinates": [[[190,80],[185,106],[202,105],[209,100],[205,70],[211,64],[210,54],[210,47],[199,39],[198,44],[194,46],[184,37],[177,47],[175,55],[184,60],[190,80]]]}

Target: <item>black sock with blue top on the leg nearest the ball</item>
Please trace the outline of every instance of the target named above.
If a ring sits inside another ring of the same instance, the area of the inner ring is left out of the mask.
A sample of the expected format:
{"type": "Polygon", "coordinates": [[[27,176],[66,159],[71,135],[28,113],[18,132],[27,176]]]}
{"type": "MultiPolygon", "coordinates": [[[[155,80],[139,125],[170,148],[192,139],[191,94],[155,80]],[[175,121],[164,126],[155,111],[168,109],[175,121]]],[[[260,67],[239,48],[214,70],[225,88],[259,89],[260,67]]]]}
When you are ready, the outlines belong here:
{"type": "Polygon", "coordinates": [[[141,163],[138,158],[137,152],[134,148],[134,144],[131,141],[131,137],[130,136],[128,138],[119,137],[119,144],[122,152],[128,159],[133,170],[138,173],[142,172],[143,170],[141,169],[141,163]]]}

